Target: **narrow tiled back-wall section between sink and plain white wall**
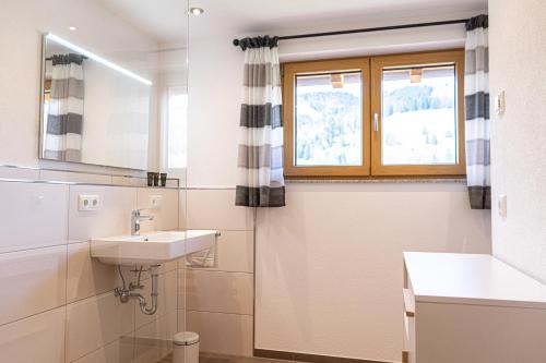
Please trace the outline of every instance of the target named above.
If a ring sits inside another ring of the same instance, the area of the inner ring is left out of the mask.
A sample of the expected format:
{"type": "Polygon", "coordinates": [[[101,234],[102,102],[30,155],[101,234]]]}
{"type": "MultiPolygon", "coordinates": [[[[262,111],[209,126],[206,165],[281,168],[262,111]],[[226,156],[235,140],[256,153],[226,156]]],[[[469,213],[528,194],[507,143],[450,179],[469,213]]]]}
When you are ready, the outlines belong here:
{"type": "MultiPolygon", "coordinates": [[[[233,189],[186,192],[188,229],[217,229],[217,266],[190,268],[186,306],[179,319],[201,336],[201,351],[252,355],[253,349],[253,216],[234,206],[233,189]]],[[[180,291],[180,289],[179,289],[180,291]]],[[[182,290],[183,291],[183,290],[182,290]]]]}

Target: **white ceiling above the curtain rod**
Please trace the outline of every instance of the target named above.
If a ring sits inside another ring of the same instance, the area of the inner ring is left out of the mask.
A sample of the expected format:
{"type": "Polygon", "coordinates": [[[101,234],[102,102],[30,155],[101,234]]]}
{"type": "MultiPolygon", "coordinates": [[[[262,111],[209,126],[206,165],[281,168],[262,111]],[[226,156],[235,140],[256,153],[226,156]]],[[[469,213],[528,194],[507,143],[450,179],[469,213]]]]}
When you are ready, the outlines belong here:
{"type": "MultiPolygon", "coordinates": [[[[187,0],[96,0],[159,44],[183,43],[187,0]]],[[[347,22],[378,23],[381,19],[429,15],[452,19],[487,9],[487,0],[189,0],[205,10],[191,16],[192,36],[226,32],[253,34],[322,26],[324,31],[347,22]],[[453,14],[453,15],[451,15],[453,14]]]]}

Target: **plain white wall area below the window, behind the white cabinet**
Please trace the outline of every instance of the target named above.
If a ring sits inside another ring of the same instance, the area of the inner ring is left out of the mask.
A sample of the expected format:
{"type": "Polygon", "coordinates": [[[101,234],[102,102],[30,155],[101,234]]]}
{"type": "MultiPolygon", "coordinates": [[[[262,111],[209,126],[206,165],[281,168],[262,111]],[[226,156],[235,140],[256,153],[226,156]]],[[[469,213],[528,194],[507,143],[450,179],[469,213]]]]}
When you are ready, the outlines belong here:
{"type": "Polygon", "coordinates": [[[400,361],[402,252],[490,252],[463,184],[289,184],[260,210],[256,346],[400,361]]]}

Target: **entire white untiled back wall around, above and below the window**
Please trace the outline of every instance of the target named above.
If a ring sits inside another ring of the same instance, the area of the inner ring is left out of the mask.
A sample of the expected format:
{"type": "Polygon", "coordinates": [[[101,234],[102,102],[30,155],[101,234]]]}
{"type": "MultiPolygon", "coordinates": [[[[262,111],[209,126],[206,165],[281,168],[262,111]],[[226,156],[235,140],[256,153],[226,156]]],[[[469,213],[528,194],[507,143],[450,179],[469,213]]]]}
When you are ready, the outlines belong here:
{"type": "MultiPolygon", "coordinates": [[[[236,183],[242,52],[234,36],[190,36],[190,187],[236,183]]],[[[280,50],[290,60],[401,52],[463,46],[464,36],[463,26],[449,26],[282,43],[280,50]]],[[[402,251],[490,252],[489,213],[470,209],[464,184],[289,183],[287,204],[258,215],[259,349],[400,361],[402,251]]]]}

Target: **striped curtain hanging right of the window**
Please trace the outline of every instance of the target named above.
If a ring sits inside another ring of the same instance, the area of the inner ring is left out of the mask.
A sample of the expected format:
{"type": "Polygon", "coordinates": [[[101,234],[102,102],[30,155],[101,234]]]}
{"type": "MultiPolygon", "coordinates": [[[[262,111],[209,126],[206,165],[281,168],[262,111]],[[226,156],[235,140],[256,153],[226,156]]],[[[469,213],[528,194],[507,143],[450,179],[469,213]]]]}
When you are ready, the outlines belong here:
{"type": "Polygon", "coordinates": [[[473,209],[491,208],[487,28],[487,15],[473,17],[466,23],[464,75],[466,178],[473,209]]]}

